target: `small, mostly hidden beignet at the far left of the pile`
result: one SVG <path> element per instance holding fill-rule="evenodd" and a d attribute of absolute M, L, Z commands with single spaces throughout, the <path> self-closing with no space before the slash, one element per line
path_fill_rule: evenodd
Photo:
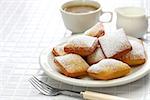
<path fill-rule="evenodd" d="M 62 55 L 65 55 L 66 52 L 64 51 L 64 46 L 65 46 L 65 43 L 62 43 L 62 44 L 59 44 L 57 46 L 55 46 L 52 50 L 52 53 L 55 55 L 55 56 L 62 56 Z"/>

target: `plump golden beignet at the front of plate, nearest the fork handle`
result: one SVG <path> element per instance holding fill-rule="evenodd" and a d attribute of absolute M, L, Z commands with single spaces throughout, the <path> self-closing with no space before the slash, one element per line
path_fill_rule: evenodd
<path fill-rule="evenodd" d="M 127 75 L 131 71 L 128 64 L 115 59 L 103 59 L 88 68 L 89 76 L 94 79 L 110 80 Z"/>

